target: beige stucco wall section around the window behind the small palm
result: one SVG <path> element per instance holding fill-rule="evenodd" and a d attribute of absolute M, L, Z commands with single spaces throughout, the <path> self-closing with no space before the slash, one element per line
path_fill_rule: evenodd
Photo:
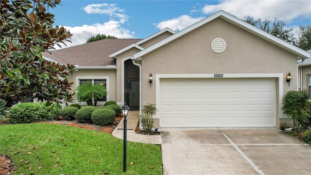
<path fill-rule="evenodd" d="M 80 69 L 73 73 L 73 76 L 69 77 L 69 82 L 74 84 L 71 87 L 71 91 L 74 91 L 79 85 L 76 82 L 76 77 L 89 77 L 89 79 L 96 79 L 96 77 L 109 77 L 109 90 L 107 91 L 107 97 L 109 100 L 117 100 L 117 70 L 83 70 Z M 76 100 L 74 103 L 78 103 Z"/>

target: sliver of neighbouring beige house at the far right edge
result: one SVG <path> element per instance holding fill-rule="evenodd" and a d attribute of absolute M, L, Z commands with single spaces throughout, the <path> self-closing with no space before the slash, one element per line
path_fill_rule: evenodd
<path fill-rule="evenodd" d="M 307 51 L 311 53 L 311 50 Z M 299 60 L 298 63 L 298 89 L 308 90 L 311 93 L 311 57 Z"/>

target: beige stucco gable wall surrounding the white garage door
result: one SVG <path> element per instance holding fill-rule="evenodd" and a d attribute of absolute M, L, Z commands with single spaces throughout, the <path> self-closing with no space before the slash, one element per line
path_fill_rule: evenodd
<path fill-rule="evenodd" d="M 223 53 L 211 49 L 212 40 L 218 37 L 226 42 Z M 156 74 L 282 73 L 285 94 L 297 88 L 296 62 L 296 55 L 218 18 L 142 57 L 142 105 L 155 103 L 155 82 L 152 87 L 148 82 L 150 72 L 154 78 Z M 290 87 L 288 72 L 293 75 Z"/>

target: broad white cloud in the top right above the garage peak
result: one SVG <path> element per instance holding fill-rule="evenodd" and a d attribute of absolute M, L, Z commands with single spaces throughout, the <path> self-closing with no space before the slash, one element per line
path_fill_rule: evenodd
<path fill-rule="evenodd" d="M 289 24 L 298 17 L 311 18 L 310 7 L 310 0 L 226 0 L 217 5 L 205 5 L 202 10 L 208 15 L 224 10 L 237 18 L 278 18 Z"/>

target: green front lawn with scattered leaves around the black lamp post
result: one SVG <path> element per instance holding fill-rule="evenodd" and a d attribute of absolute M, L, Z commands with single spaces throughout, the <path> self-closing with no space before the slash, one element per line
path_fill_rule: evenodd
<path fill-rule="evenodd" d="M 158 145 L 128 141 L 124 173 L 123 140 L 67 125 L 1 125 L 0 154 L 11 157 L 15 175 L 162 175 Z"/>

